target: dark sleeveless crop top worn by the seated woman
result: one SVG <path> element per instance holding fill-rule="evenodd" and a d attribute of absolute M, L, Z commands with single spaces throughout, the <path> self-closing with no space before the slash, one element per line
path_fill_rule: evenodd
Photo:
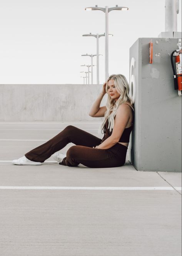
<path fill-rule="evenodd" d="M 127 103 L 125 103 L 125 104 L 127 104 Z M 129 104 L 127 104 L 127 105 L 130 106 Z M 130 108 L 131 108 L 131 106 L 130 106 Z M 133 109 L 132 109 L 132 114 L 133 114 L 132 126 L 130 126 L 128 128 L 125 128 L 119 142 L 129 142 L 130 141 L 130 133 L 131 133 L 131 131 L 133 129 L 133 126 L 134 126 L 134 111 L 133 111 Z M 109 125 L 109 121 L 107 119 L 106 122 L 105 122 L 105 125 L 104 125 L 104 138 L 102 139 L 101 143 L 104 140 L 106 140 L 108 137 L 110 137 L 110 135 L 112 134 L 112 131 L 110 132 L 109 129 L 108 129 L 108 125 Z"/>

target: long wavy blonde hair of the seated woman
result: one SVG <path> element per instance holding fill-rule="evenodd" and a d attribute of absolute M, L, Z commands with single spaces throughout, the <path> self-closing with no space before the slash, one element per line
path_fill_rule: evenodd
<path fill-rule="evenodd" d="M 120 94 L 120 97 L 117 101 L 115 101 L 115 99 L 112 99 L 108 93 L 107 84 L 108 84 L 109 80 L 114 80 L 114 85 L 116 87 L 116 90 Z M 115 118 L 117 109 L 120 104 L 130 101 L 131 107 L 134 110 L 132 99 L 129 96 L 129 90 L 130 90 L 129 83 L 124 75 L 121 75 L 121 74 L 110 75 L 110 77 L 107 79 L 107 83 L 105 86 L 105 91 L 108 94 L 108 98 L 107 98 L 107 102 L 106 102 L 107 111 L 104 114 L 104 121 L 99 128 L 99 131 L 101 131 L 101 133 L 102 133 L 102 130 L 104 128 L 107 118 L 109 121 L 108 129 L 110 132 L 112 131 L 112 129 L 114 127 L 114 118 Z"/>

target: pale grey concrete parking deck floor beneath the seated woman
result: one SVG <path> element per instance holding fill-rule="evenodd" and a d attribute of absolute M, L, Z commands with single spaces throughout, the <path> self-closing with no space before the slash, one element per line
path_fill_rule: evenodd
<path fill-rule="evenodd" d="M 101 138 L 96 122 L 0 123 L 0 256 L 181 256 L 181 173 L 11 164 L 67 125 Z"/>

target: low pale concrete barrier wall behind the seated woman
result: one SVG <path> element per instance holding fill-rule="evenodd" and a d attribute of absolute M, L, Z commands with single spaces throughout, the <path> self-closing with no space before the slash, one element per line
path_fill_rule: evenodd
<path fill-rule="evenodd" d="M 0 85 L 0 121 L 93 121 L 88 115 L 102 85 Z M 100 106 L 104 106 L 107 94 Z"/>

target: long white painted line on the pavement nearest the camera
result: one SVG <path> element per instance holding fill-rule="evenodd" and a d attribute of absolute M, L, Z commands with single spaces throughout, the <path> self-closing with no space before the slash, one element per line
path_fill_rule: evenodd
<path fill-rule="evenodd" d="M 49 187 L 49 186 L 0 186 L 0 189 L 58 189 L 58 190 L 181 190 L 181 187 Z"/>

